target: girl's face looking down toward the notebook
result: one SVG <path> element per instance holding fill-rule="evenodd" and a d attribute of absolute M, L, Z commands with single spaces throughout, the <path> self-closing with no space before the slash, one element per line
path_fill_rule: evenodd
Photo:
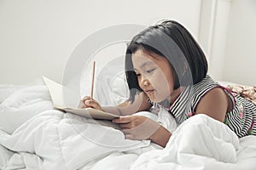
<path fill-rule="evenodd" d="M 149 54 L 138 49 L 131 55 L 134 71 L 140 88 L 149 99 L 159 103 L 164 99 L 171 101 L 173 92 L 172 67 L 168 60 L 158 54 Z"/>

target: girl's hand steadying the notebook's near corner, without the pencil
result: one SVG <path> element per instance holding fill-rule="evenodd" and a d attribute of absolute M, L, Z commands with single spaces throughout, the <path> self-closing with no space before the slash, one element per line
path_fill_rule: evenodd
<path fill-rule="evenodd" d="M 121 116 L 112 122 L 119 123 L 119 127 L 125 133 L 125 139 L 151 139 L 160 127 L 159 123 L 146 116 Z"/>

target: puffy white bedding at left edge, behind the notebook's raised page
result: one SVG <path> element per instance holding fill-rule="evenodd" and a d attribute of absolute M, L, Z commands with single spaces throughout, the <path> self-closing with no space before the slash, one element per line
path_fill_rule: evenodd
<path fill-rule="evenodd" d="M 0 129 L 13 133 L 32 116 L 49 109 L 52 103 L 46 86 L 20 88 L 0 105 Z"/>

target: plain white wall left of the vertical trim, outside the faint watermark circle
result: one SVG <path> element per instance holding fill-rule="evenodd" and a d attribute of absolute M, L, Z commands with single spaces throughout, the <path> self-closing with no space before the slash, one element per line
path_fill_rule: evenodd
<path fill-rule="evenodd" d="M 174 19 L 198 37 L 201 0 L 0 0 L 0 83 L 61 82 L 73 49 L 93 32 Z"/>

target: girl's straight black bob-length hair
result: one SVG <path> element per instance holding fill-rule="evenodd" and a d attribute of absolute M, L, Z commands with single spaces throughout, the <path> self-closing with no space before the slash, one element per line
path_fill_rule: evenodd
<path fill-rule="evenodd" d="M 126 48 L 125 76 L 130 89 L 131 102 L 143 90 L 139 87 L 131 55 L 138 49 L 144 53 L 165 57 L 174 76 L 174 89 L 189 86 L 207 75 L 207 59 L 194 37 L 181 24 L 174 20 L 164 20 L 149 26 L 132 38 Z"/>

